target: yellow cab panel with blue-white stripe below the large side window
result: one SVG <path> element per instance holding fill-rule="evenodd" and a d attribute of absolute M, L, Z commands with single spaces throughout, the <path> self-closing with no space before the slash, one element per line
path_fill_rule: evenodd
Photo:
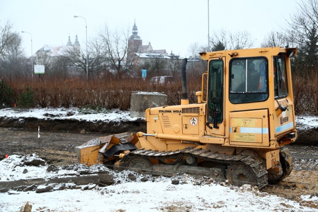
<path fill-rule="evenodd" d="M 269 146 L 268 110 L 230 113 L 230 145 Z"/>

